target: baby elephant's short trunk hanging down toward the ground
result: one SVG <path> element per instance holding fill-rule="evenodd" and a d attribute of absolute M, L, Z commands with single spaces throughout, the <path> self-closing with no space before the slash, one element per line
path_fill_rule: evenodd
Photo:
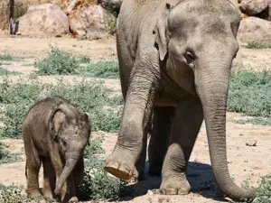
<path fill-rule="evenodd" d="M 74 169 L 75 164 L 77 161 L 79 161 L 79 155 L 74 156 L 74 153 L 72 156 L 67 156 L 66 163 L 64 166 L 63 171 L 61 172 L 61 177 L 59 178 L 56 188 L 54 190 L 54 193 L 56 195 L 61 194 L 61 188 L 63 187 L 63 184 L 67 180 L 67 178 L 70 176 L 70 172 Z"/>

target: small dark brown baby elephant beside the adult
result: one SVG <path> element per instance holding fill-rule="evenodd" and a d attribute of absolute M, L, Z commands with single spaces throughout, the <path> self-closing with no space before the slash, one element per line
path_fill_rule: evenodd
<path fill-rule="evenodd" d="M 83 153 L 90 132 L 89 116 L 64 98 L 47 97 L 30 108 L 23 121 L 28 196 L 61 195 L 62 202 L 79 201 L 76 189 L 84 176 Z M 41 164 L 42 194 L 38 182 Z"/>

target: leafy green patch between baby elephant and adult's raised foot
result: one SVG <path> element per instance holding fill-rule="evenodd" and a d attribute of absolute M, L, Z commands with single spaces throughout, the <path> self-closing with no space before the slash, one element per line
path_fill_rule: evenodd
<path fill-rule="evenodd" d="M 85 175 L 79 186 L 80 200 L 117 200 L 124 194 L 125 183 L 102 170 L 104 161 L 100 156 L 105 151 L 101 143 L 102 139 L 93 139 L 85 150 Z"/>

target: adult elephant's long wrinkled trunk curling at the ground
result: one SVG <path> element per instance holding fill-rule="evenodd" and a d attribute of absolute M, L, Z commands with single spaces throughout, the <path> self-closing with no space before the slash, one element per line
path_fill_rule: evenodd
<path fill-rule="evenodd" d="M 204 64 L 204 63 L 201 63 Z M 220 66 L 218 66 L 220 65 Z M 206 124 L 210 161 L 220 189 L 234 200 L 253 198 L 256 189 L 239 188 L 229 176 L 226 149 L 226 106 L 229 90 L 229 63 L 221 61 L 195 72 L 195 84 L 201 98 Z"/>

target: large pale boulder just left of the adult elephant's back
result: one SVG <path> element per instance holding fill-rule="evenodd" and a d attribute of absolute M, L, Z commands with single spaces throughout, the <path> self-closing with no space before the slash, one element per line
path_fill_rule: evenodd
<path fill-rule="evenodd" d="M 102 38 L 116 31 L 117 18 L 101 5 L 83 5 L 75 14 L 70 14 L 70 30 L 78 37 Z"/>

